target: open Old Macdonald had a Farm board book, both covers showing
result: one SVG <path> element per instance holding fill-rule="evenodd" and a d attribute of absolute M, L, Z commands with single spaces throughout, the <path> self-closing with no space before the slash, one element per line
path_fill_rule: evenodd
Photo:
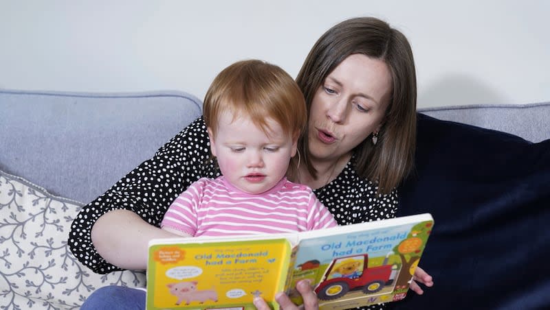
<path fill-rule="evenodd" d="M 281 235 L 155 239 L 149 243 L 147 309 L 278 309 L 309 279 L 320 309 L 405 298 L 432 231 L 429 213 Z"/>

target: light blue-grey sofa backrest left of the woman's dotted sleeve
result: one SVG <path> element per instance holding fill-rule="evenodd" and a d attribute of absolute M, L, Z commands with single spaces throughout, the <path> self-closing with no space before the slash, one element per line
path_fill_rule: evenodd
<path fill-rule="evenodd" d="M 201 115 L 176 91 L 0 90 L 0 169 L 89 202 Z"/>

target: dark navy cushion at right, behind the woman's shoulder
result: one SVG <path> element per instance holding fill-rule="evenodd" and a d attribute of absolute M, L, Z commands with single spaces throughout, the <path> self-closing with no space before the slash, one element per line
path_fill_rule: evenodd
<path fill-rule="evenodd" d="M 416 170 L 399 193 L 399 215 L 434 217 L 420 263 L 434 287 L 395 307 L 550 305 L 550 140 L 419 114 Z"/>

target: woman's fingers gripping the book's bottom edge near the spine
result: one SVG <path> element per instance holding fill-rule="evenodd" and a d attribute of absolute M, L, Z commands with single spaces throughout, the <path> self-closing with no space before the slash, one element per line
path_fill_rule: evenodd
<path fill-rule="evenodd" d="M 298 290 L 300 295 L 302 295 L 302 298 L 304 300 L 304 305 L 301 305 L 301 306 L 294 305 L 294 302 L 290 300 L 287 294 L 281 292 L 275 295 L 275 300 L 281 306 L 281 309 L 284 309 L 284 310 L 298 310 L 298 309 L 317 310 L 319 309 L 317 295 L 314 293 L 314 290 L 311 288 L 311 283 L 309 283 L 308 280 L 299 281 L 296 284 L 296 289 Z M 254 298 L 254 306 L 256 306 L 258 310 L 270 310 L 270 306 L 268 306 L 267 302 L 265 302 L 265 300 L 263 300 L 261 297 Z"/>

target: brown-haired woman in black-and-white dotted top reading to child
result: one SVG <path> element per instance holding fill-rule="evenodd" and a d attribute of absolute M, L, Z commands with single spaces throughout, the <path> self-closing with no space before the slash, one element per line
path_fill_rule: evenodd
<path fill-rule="evenodd" d="M 319 38 L 297 82 L 309 125 L 298 150 L 305 164 L 289 180 L 314 189 L 340 225 L 395 217 L 395 187 L 412 169 L 416 139 L 415 65 L 405 36 L 374 18 L 343 21 Z M 98 273 L 144 269 L 148 240 L 171 237 L 158 228 L 170 202 L 198 178 L 219 176 L 208 149 L 199 118 L 85 206 L 69 234 L 75 256 Z M 419 268 L 415 280 L 432 285 Z M 422 294 L 414 281 L 410 287 Z M 315 309 L 309 285 L 298 291 Z M 284 294 L 277 300 L 296 307 Z"/>

